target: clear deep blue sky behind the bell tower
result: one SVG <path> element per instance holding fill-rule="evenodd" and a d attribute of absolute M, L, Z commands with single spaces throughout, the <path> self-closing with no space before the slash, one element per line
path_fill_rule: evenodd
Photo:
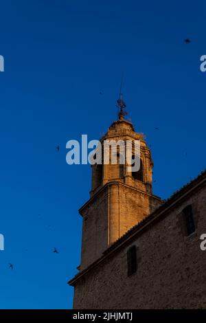
<path fill-rule="evenodd" d="M 91 168 L 66 164 L 66 142 L 106 132 L 124 71 L 128 116 L 152 145 L 154 193 L 165 199 L 196 177 L 206 3 L 7 0 L 0 11 L 0 307 L 69 309 Z"/>

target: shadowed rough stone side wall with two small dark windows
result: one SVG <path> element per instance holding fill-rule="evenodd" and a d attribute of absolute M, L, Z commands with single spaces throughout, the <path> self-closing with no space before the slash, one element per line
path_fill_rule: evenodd
<path fill-rule="evenodd" d="M 75 283 L 75 309 L 206 308 L 206 188 L 187 197 Z M 183 208 L 192 203 L 196 232 L 185 236 Z M 126 211 L 125 211 L 126 212 Z M 127 276 L 128 247 L 138 268 Z"/>

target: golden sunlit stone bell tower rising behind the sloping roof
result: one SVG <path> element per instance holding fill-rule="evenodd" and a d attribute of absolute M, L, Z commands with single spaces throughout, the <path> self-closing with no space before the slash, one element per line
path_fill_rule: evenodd
<path fill-rule="evenodd" d="M 136 133 L 133 124 L 125 120 L 126 104 L 120 96 L 118 120 L 109 127 L 101 139 L 102 164 L 92 166 L 90 199 L 79 212 L 82 215 L 82 254 L 78 269 L 82 271 L 100 258 L 103 252 L 131 227 L 137 225 L 161 200 L 152 194 L 152 157 L 144 136 Z M 120 148 L 117 146 L 117 163 L 111 163 L 112 150 L 108 151 L 109 163 L 104 164 L 106 140 L 130 140 L 140 144 L 140 167 L 136 172 L 128 171 L 122 164 Z M 135 152 L 133 144 L 133 153 Z M 125 157 L 125 156 L 124 156 Z M 134 157 L 134 156 L 133 156 Z"/>

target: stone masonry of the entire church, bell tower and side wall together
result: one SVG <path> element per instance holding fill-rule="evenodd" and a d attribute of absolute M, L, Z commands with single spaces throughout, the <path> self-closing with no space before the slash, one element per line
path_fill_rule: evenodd
<path fill-rule="evenodd" d="M 93 165 L 90 199 L 80 208 L 82 255 L 74 309 L 198 309 L 206 307 L 206 172 L 161 201 L 152 194 L 153 162 L 144 137 L 126 120 L 104 139 L 141 140 L 141 169 Z M 185 210 L 192 210 L 188 234 Z M 188 218 L 189 219 L 189 218 Z M 137 250 L 128 276 L 128 250 Z"/>

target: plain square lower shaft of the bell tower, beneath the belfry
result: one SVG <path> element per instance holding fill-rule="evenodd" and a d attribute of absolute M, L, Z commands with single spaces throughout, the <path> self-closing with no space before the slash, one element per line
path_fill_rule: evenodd
<path fill-rule="evenodd" d="M 80 269 L 100 258 L 108 245 L 160 204 L 158 198 L 118 181 L 105 186 L 83 211 Z"/>

